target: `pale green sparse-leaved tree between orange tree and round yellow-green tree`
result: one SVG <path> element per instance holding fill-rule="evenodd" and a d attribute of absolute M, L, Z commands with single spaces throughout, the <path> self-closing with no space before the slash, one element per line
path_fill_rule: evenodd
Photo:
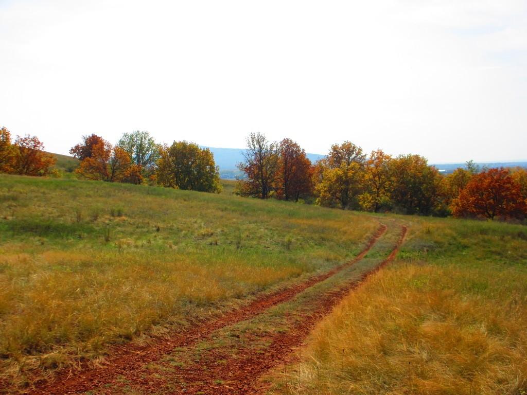
<path fill-rule="evenodd" d="M 150 174 L 159 159 L 159 144 L 148 132 L 135 131 L 124 133 L 117 146 L 121 147 L 136 166 L 140 166 L 143 174 Z"/>

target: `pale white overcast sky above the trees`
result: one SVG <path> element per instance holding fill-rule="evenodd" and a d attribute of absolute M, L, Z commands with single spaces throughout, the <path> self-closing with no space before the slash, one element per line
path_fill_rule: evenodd
<path fill-rule="evenodd" d="M 0 0 L 0 126 L 527 160 L 527 1 Z"/>

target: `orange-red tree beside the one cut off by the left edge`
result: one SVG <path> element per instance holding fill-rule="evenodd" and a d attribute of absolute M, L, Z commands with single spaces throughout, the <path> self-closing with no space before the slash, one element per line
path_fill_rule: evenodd
<path fill-rule="evenodd" d="M 56 158 L 44 151 L 44 144 L 36 136 L 17 136 L 13 144 L 11 172 L 21 175 L 49 175 Z"/>

